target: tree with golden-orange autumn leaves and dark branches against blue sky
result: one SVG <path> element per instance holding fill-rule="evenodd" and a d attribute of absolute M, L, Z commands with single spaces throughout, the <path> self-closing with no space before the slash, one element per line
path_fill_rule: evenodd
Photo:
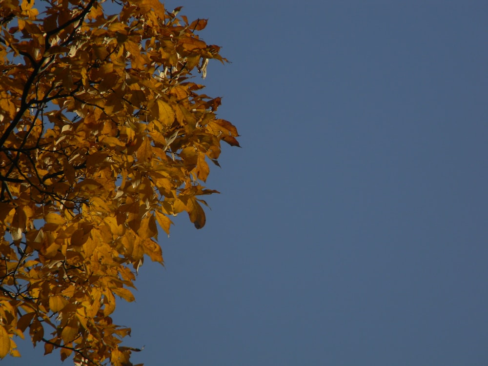
<path fill-rule="evenodd" d="M 102 2 L 0 2 L 1 358 L 28 330 L 61 360 L 131 365 L 115 296 L 134 300 L 144 256 L 163 264 L 157 224 L 205 224 L 207 162 L 239 146 L 195 79 L 226 61 L 206 20 Z"/>

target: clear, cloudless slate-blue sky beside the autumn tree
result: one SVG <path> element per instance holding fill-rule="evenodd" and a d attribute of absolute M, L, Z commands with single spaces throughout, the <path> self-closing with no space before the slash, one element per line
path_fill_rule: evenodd
<path fill-rule="evenodd" d="M 488 365 L 488 3 L 165 5 L 232 61 L 203 82 L 243 148 L 120 301 L 134 363 Z"/>

